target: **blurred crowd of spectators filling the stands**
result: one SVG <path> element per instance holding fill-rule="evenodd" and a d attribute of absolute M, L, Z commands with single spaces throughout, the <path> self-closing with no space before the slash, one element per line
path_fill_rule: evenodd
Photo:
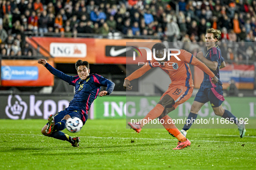
<path fill-rule="evenodd" d="M 119 32 L 126 38 L 203 42 L 207 28 L 220 29 L 223 42 L 256 41 L 256 0 L 0 0 L 5 56 L 33 55 L 25 41 L 28 31 L 60 37 Z M 232 51 L 236 48 L 224 50 L 231 54 L 228 60 L 256 60 L 255 48 L 245 45 L 241 55 Z"/>

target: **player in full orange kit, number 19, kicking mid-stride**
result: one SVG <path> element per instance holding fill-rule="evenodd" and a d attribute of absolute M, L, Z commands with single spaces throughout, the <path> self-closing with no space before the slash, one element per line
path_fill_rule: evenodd
<path fill-rule="evenodd" d="M 162 97 L 160 98 L 158 104 L 156 104 L 156 107 L 154 107 L 143 118 L 143 120 L 140 121 L 140 123 L 129 122 L 128 125 L 135 132 L 139 133 L 145 122 L 149 123 L 148 120 L 154 120 L 158 117 L 159 121 L 162 120 L 160 122 L 165 129 L 172 133 L 179 141 L 178 146 L 173 149 L 182 149 L 190 146 L 191 142 L 181 134 L 175 124 L 170 123 L 172 122 L 172 119 L 168 116 L 168 113 L 175 110 L 179 104 L 187 101 L 192 95 L 194 84 L 188 64 L 198 66 L 198 68 L 206 72 L 212 78 L 212 83 L 217 83 L 218 79 L 204 63 L 193 57 L 193 55 L 186 50 L 180 50 L 181 53 L 177 55 L 177 57 L 180 59 L 179 61 L 173 56 L 170 57 L 170 60 L 165 57 L 167 56 L 167 50 L 165 50 L 166 47 L 162 43 L 154 44 L 151 49 L 152 52 L 153 49 L 155 49 L 155 56 L 159 60 L 157 61 L 153 58 L 151 61 L 149 60 L 147 63 L 145 63 L 141 68 L 134 71 L 130 76 L 126 77 L 123 87 L 131 90 L 133 86 L 130 86 L 130 81 L 139 78 L 145 72 L 149 71 L 149 69 L 154 67 L 160 67 L 163 71 L 165 71 L 169 75 L 172 82 L 165 93 L 162 94 Z"/>

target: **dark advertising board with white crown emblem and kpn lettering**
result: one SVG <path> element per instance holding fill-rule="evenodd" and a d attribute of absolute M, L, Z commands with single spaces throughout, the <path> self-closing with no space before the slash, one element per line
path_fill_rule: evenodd
<path fill-rule="evenodd" d="M 73 95 L 1 95 L 0 119 L 47 119 L 68 107 Z"/>

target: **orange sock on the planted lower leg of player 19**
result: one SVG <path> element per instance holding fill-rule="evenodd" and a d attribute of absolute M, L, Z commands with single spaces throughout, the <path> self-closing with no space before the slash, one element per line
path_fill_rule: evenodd
<path fill-rule="evenodd" d="M 185 142 L 187 139 L 181 134 L 181 132 L 177 129 L 177 127 L 175 126 L 175 124 L 172 123 L 172 118 L 168 115 L 164 116 L 162 118 L 163 121 L 161 121 L 162 125 L 165 127 L 165 129 L 169 132 L 172 133 L 172 135 L 174 135 L 178 141 L 180 142 Z M 169 121 L 168 121 L 169 120 Z"/>

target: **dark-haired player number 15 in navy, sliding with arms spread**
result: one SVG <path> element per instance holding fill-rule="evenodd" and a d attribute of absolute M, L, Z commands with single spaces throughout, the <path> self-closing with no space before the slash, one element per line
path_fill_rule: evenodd
<path fill-rule="evenodd" d="M 113 91 L 115 84 L 97 74 L 89 75 L 90 69 L 87 61 L 78 60 L 75 63 L 78 76 L 64 74 L 53 68 L 45 59 L 39 59 L 38 63 L 45 66 L 53 75 L 75 86 L 75 95 L 69 106 L 65 110 L 58 112 L 55 116 L 50 115 L 48 123 L 42 128 L 41 132 L 45 136 L 68 141 L 72 146 L 78 147 L 79 137 L 72 138 L 61 132 L 61 130 L 66 128 L 66 121 L 70 117 L 78 117 L 84 124 L 88 118 L 88 110 L 90 110 L 91 104 L 97 98 L 97 95 L 109 95 Z M 100 91 L 101 86 L 107 87 L 106 91 Z"/>

